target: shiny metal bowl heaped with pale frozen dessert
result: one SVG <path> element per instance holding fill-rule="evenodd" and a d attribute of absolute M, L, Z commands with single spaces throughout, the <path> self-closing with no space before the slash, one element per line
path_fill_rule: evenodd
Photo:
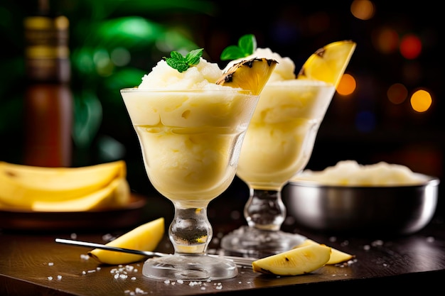
<path fill-rule="evenodd" d="M 343 160 L 321 171 L 304 170 L 284 188 L 297 224 L 329 234 L 414 234 L 434 216 L 439 179 L 385 162 Z"/>

